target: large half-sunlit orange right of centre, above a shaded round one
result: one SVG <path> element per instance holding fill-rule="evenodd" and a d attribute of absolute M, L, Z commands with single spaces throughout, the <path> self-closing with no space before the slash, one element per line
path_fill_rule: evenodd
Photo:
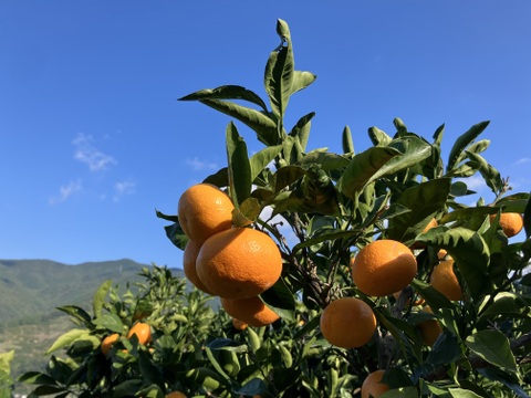
<path fill-rule="evenodd" d="M 352 279 L 363 293 L 386 296 L 406 287 L 417 274 L 417 261 L 404 243 L 377 240 L 360 250 Z"/>

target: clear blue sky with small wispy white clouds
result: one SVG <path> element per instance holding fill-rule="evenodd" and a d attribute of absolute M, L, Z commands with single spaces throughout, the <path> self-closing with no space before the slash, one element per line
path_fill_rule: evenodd
<path fill-rule="evenodd" d="M 490 119 L 485 156 L 530 190 L 531 2 L 251 3 L 0 1 L 0 258 L 180 268 L 155 209 L 176 213 L 225 165 L 230 119 L 176 98 L 223 84 L 264 97 L 278 18 L 295 67 L 317 75 L 288 108 L 288 125 L 316 112 L 309 148 L 340 151 L 348 125 L 366 149 L 368 127 L 400 117 L 428 138 L 445 123 L 448 150 Z"/>

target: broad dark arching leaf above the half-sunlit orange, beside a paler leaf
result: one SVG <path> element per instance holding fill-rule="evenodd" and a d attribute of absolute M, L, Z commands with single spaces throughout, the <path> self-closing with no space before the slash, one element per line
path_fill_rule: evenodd
<path fill-rule="evenodd" d="M 337 189 L 348 198 L 354 198 L 363 187 L 377 178 L 378 170 L 386 163 L 398 155 L 400 151 L 395 148 L 372 147 L 353 156 L 337 181 Z"/>

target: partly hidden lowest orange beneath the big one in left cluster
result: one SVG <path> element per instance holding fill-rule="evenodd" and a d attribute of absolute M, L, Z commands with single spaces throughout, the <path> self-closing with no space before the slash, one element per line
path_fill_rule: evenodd
<path fill-rule="evenodd" d="M 280 317 L 258 296 L 240 300 L 221 298 L 221 306 L 230 316 L 254 327 L 270 325 Z"/>

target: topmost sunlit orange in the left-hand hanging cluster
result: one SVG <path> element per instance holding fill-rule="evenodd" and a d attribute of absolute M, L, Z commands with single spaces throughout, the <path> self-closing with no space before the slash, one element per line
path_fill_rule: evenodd
<path fill-rule="evenodd" d="M 197 184 L 179 198 L 179 224 L 191 240 L 206 241 L 212 234 L 232 226 L 235 206 L 218 187 Z"/>

